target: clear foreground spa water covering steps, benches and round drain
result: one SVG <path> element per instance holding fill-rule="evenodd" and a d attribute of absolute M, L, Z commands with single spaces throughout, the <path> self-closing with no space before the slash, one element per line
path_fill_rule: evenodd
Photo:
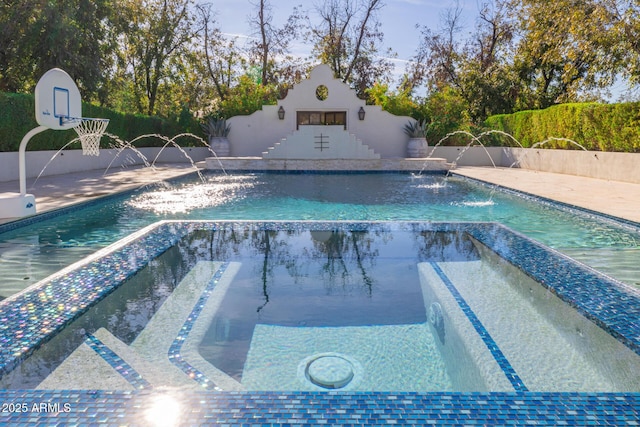
<path fill-rule="evenodd" d="M 97 276 L 91 264 L 78 267 L 95 278 L 75 294 L 59 291 L 68 302 L 96 298 L 97 288 L 111 286 L 104 278 L 115 271 L 134 274 L 79 317 L 65 314 L 72 322 L 21 360 L 19 369 L 0 378 L 0 386 L 367 392 L 640 389 L 637 331 L 628 330 L 628 322 L 615 324 L 619 313 L 630 309 L 625 304 L 637 306 L 640 293 L 504 227 L 427 222 L 184 224 L 156 225 L 143 235 L 146 241 L 127 239 L 110 249 L 128 254 L 126 266 L 118 257 L 109 261 L 105 253 L 95 260 L 100 265 Z M 175 243 L 159 249 L 159 255 L 146 252 L 152 251 L 149 242 L 172 236 Z M 557 264 L 557 271 L 536 272 L 531 261 L 540 257 Z M 519 263 L 528 263 L 524 268 L 531 271 Z M 569 275 L 562 277 L 562 271 Z M 74 274 L 67 273 L 66 281 Z M 611 301 L 599 299 L 594 306 L 596 289 L 604 289 Z M 626 302 L 616 292 L 623 292 Z M 35 290 L 33 297 L 40 300 L 47 293 Z M 613 323 L 603 318 L 599 326 L 589 319 L 608 304 Z M 13 314 L 0 311 L 0 316 Z M 23 326 L 16 319 L 11 327 L 24 336 L 23 330 L 38 331 L 53 320 L 47 315 L 38 324 L 37 319 L 33 313 Z M 626 346 L 603 328 L 635 341 Z"/>

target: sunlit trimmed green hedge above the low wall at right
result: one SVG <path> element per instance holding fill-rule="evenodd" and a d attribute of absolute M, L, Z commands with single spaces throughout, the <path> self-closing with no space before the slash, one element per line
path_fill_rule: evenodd
<path fill-rule="evenodd" d="M 545 110 L 491 116 L 489 129 L 513 135 L 525 147 L 551 137 L 571 139 L 588 150 L 640 152 L 640 103 L 562 104 Z M 550 142 L 546 147 L 575 148 Z"/>

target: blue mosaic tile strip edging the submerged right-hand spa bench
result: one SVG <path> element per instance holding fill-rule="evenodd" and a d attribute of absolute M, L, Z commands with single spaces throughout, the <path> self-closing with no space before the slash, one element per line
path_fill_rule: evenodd
<path fill-rule="evenodd" d="M 433 270 L 436 272 L 438 277 L 440 277 L 444 285 L 447 287 L 453 298 L 456 300 L 464 315 L 467 316 L 467 319 L 469 319 L 469 322 L 471 323 L 471 325 L 473 325 L 473 328 L 476 330 L 478 335 L 480 335 L 480 338 L 489 349 L 489 352 L 498 363 L 498 366 L 500 366 L 500 369 L 502 369 L 502 372 L 504 372 L 504 375 L 507 377 L 514 390 L 528 391 L 529 389 L 524 384 L 524 381 L 522 381 L 520 376 L 516 373 L 516 370 L 513 369 L 513 366 L 511 366 L 509 360 L 505 357 L 504 353 L 502 353 L 502 350 L 500 350 L 498 344 L 494 341 L 493 337 L 491 337 L 491 334 L 484 327 L 480 319 L 478 319 L 478 316 L 476 316 L 471 307 L 469 307 L 469 304 L 467 304 L 462 295 L 460 295 L 460 292 L 458 292 L 458 289 L 455 287 L 453 282 L 451 282 L 445 272 L 442 271 L 437 262 L 432 261 L 430 262 L 430 265 L 431 268 L 433 268 Z"/>

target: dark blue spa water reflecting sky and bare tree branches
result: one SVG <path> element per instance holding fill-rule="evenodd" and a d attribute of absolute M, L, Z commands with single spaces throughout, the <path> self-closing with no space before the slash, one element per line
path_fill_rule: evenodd
<path fill-rule="evenodd" d="M 466 234 L 419 226 L 413 231 L 382 225 L 367 230 L 220 230 L 190 238 L 213 239 L 217 259 L 243 264 L 199 347 L 205 359 L 238 380 L 257 324 L 425 323 L 417 263 L 479 257 Z"/>

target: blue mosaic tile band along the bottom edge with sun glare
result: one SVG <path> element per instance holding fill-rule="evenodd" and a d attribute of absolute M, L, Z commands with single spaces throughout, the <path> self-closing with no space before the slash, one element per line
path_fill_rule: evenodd
<path fill-rule="evenodd" d="M 0 402 L 0 423 L 18 427 L 153 425 L 162 403 L 176 426 L 640 425 L 632 393 L 0 391 Z"/>

